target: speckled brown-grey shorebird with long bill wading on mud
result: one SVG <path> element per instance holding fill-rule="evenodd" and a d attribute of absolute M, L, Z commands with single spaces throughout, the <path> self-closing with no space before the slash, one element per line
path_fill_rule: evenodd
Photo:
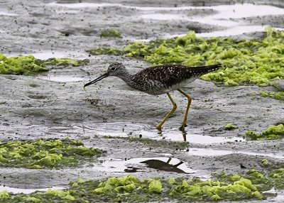
<path fill-rule="evenodd" d="M 178 90 L 178 92 L 187 97 L 188 100 L 187 109 L 185 110 L 185 117 L 182 121 L 182 126 L 180 126 L 180 130 L 184 131 L 185 127 L 187 126 L 187 114 L 190 110 L 192 99 L 190 95 L 183 92 L 180 88 L 185 87 L 185 85 L 195 81 L 195 79 L 201 75 L 218 70 L 219 67 L 221 67 L 219 64 L 200 67 L 187 67 L 185 65 L 168 64 L 148 67 L 136 73 L 135 75 L 131 75 L 131 73 L 129 73 L 121 62 L 113 62 L 111 65 L 109 65 L 107 72 L 97 77 L 97 79 L 84 84 L 84 89 L 90 84 L 94 84 L 101 79 L 109 76 L 115 76 L 124 80 L 124 82 L 126 82 L 126 84 L 133 89 L 137 89 L 141 92 L 146 92 L 152 95 L 167 94 L 173 104 L 173 109 L 167 114 L 167 116 L 165 116 L 165 119 L 158 124 L 156 127 L 158 130 L 161 130 L 165 121 L 167 121 L 170 115 L 172 115 L 175 109 L 177 109 L 177 104 L 175 104 L 175 101 L 170 96 L 170 92 Z"/>

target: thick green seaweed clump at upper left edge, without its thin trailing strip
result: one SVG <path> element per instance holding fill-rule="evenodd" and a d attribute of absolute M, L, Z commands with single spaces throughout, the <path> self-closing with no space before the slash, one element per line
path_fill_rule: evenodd
<path fill-rule="evenodd" d="M 0 74 L 33 75 L 36 72 L 45 71 L 48 71 L 48 68 L 32 55 L 6 57 L 0 54 Z"/>

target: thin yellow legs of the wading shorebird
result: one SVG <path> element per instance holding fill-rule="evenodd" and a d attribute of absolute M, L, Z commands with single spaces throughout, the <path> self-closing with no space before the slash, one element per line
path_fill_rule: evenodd
<path fill-rule="evenodd" d="M 178 92 L 180 92 L 181 94 L 183 94 L 185 97 L 187 97 L 187 100 L 188 100 L 188 103 L 187 103 L 187 109 L 185 110 L 185 118 L 183 119 L 182 121 L 182 126 L 180 126 L 180 131 L 184 131 L 185 130 L 185 127 L 187 126 L 186 124 L 186 121 L 187 121 L 187 114 L 188 114 L 188 111 L 190 110 L 190 104 L 191 104 L 191 97 L 190 95 L 186 94 L 185 92 L 183 92 L 181 89 L 178 89 Z M 170 101 L 172 102 L 173 104 L 173 109 L 168 113 L 167 116 L 165 116 L 165 119 L 163 119 L 162 122 L 160 122 L 160 124 L 158 124 L 158 126 L 156 127 L 158 130 L 161 130 L 162 129 L 162 126 L 163 124 L 165 123 L 165 121 L 168 120 L 168 118 L 170 117 L 170 115 L 173 114 L 173 112 L 175 111 L 175 109 L 177 109 L 177 104 L 175 104 L 175 101 L 173 101 L 173 98 L 170 97 L 170 94 L 167 93 L 168 97 L 170 98 Z"/>

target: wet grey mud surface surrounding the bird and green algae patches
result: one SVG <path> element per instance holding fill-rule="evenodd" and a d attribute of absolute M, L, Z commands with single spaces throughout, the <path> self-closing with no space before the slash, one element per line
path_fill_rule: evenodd
<path fill-rule="evenodd" d="M 107 150 L 99 163 L 62 170 L 27 170 L 0 168 L 0 184 L 19 188 L 67 187 L 77 177 L 102 179 L 123 176 L 129 165 L 138 170 L 137 177 L 192 177 L 208 178 L 214 172 L 244 173 L 251 168 L 266 170 L 263 158 L 271 163 L 283 162 L 284 141 L 244 141 L 246 130 L 263 131 L 270 125 L 284 123 L 283 101 L 258 95 L 275 91 L 275 87 L 217 87 L 197 79 L 184 88 L 192 96 L 192 106 L 185 132 L 178 130 L 187 101 L 179 92 L 173 92 L 178 109 L 164 125 L 155 130 L 171 109 L 166 95 L 151 96 L 137 92 L 118 78 L 109 77 L 87 87 L 83 85 L 101 75 L 110 62 L 123 62 L 132 72 L 150 66 L 147 62 L 129 57 L 108 55 L 89 56 L 84 50 L 97 46 L 124 48 L 127 42 L 167 35 L 181 35 L 194 30 L 197 33 L 226 30 L 224 26 L 202 24 L 184 19 L 149 20 L 143 15 L 177 14 L 191 18 L 212 15 L 214 9 L 180 9 L 176 6 L 204 6 L 201 1 L 107 1 L 107 6 L 68 6 L 77 1 L 0 2 L 0 48 L 7 56 L 35 55 L 35 57 L 89 58 L 83 67 L 51 68 L 45 75 L 35 77 L 0 75 L 0 141 L 30 140 L 35 138 L 74 138 L 87 146 Z M 97 1 L 97 4 L 103 1 Z M 270 4 L 270 1 L 245 3 Z M 104 2 L 105 3 L 105 2 Z M 226 4 L 227 1 L 208 1 L 205 6 Z M 109 6 L 109 4 L 113 4 Z M 119 6 L 121 4 L 128 6 Z M 273 1 L 283 8 L 283 1 Z M 63 5 L 63 6 L 62 6 Z M 135 9 L 142 7 L 173 7 L 175 9 Z M 284 10 L 283 10 L 284 11 Z M 283 15 L 242 21 L 246 26 L 271 25 L 284 28 Z M 273 23 L 271 23 L 273 22 Z M 123 38 L 100 38 L 104 29 L 115 28 Z M 264 27 L 263 27 L 264 29 Z M 245 31 L 244 31 L 245 32 Z M 259 35 L 258 33 L 250 35 Z M 240 35 L 242 37 L 243 35 Z M 281 84 L 281 82 L 280 82 Z M 283 82 L 282 82 L 283 87 Z M 224 125 L 233 123 L 239 128 L 224 131 Z M 103 138 L 103 136 L 118 138 Z M 142 136 L 159 142 L 129 142 L 128 136 Z M 179 149 L 173 141 L 189 142 Z M 225 141 L 219 141 L 224 138 Z M 195 140 L 192 142 L 192 140 Z M 146 165 L 131 163 L 137 158 L 175 158 L 182 161 L 185 174 L 166 172 Z M 116 163 L 111 163 L 112 161 Z M 118 164 L 118 165 L 116 165 Z M 175 163 L 173 163 L 175 164 Z M 246 168 L 241 168 L 240 164 Z M 269 200 L 269 199 L 268 199 Z M 275 199 L 271 199 L 274 201 Z"/>

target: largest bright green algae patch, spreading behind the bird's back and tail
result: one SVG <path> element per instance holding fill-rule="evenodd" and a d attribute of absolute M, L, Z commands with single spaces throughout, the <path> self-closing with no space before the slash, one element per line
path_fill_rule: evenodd
<path fill-rule="evenodd" d="M 135 42 L 121 50 L 129 57 L 141 57 L 153 65 L 178 63 L 187 66 L 222 64 L 221 70 L 201 79 L 225 86 L 271 85 L 283 79 L 284 32 L 266 28 L 263 39 L 200 38 L 195 32 L 180 38 Z"/>

